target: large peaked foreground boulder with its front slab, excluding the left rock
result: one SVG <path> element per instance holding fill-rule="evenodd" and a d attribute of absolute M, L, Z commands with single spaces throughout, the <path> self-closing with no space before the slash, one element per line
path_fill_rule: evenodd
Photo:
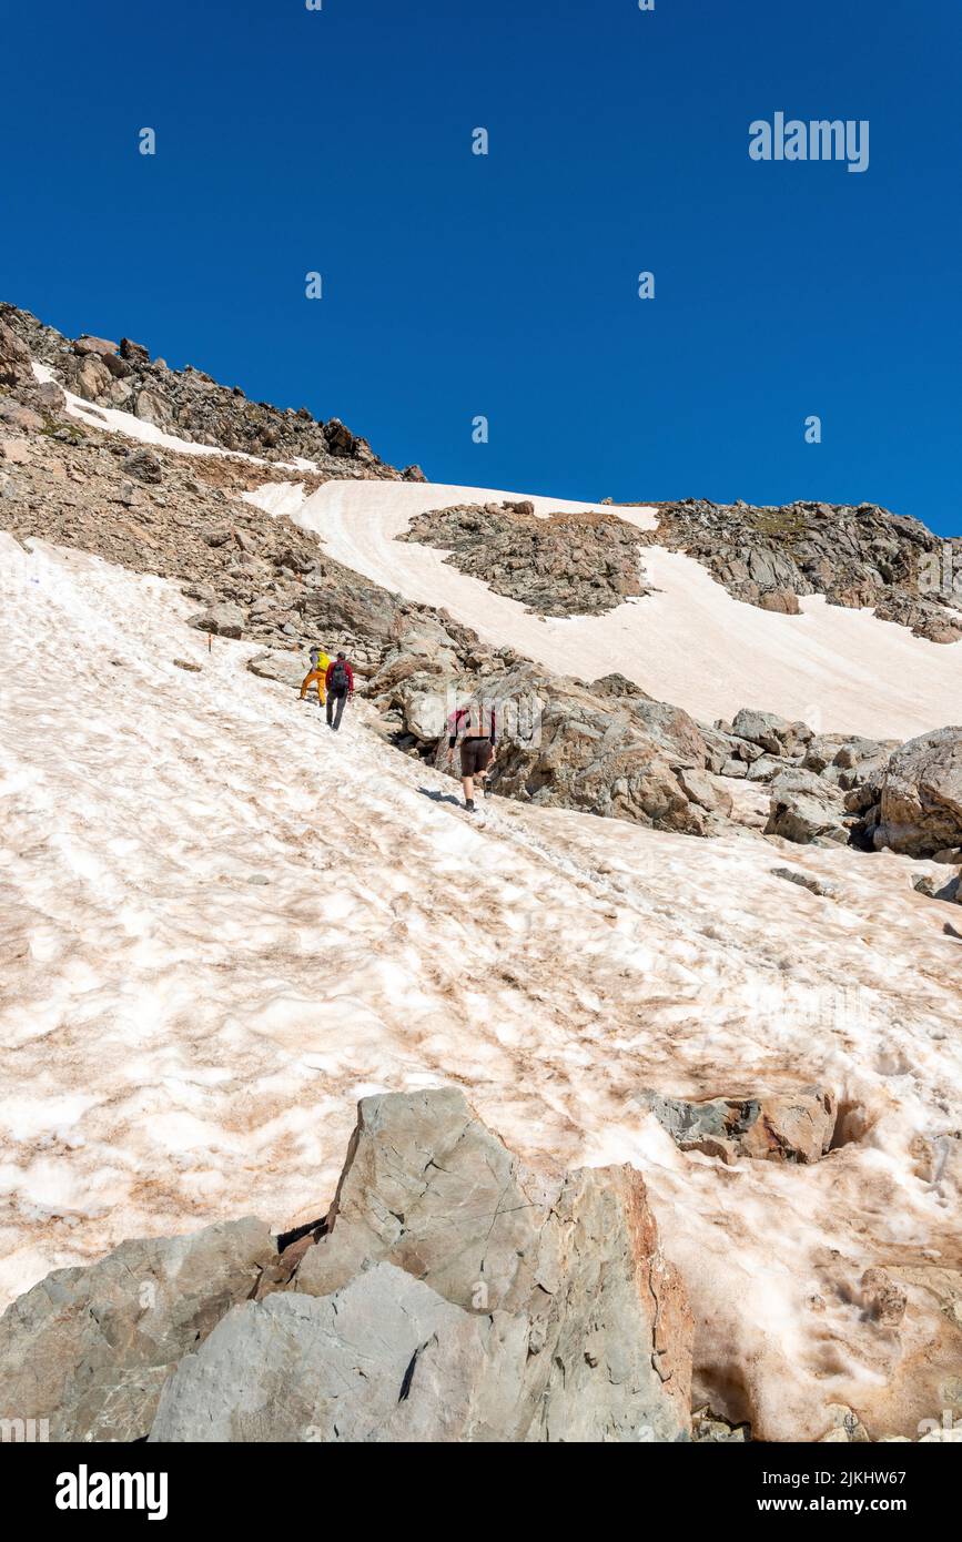
<path fill-rule="evenodd" d="M 151 1439 L 684 1440 L 691 1315 L 632 1167 L 533 1172 L 461 1092 L 365 1098 L 327 1231 Z"/>

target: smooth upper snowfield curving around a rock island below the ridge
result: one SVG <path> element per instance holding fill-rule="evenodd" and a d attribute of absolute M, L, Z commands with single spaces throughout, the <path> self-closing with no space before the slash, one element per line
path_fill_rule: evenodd
<path fill-rule="evenodd" d="M 651 547 L 644 572 L 655 594 L 606 615 L 541 620 L 458 572 L 444 552 L 395 540 L 426 509 L 526 493 L 333 481 L 298 509 L 296 489 L 288 492 L 284 512 L 316 530 L 331 557 L 410 600 L 444 604 L 486 641 L 563 674 L 594 680 L 620 671 L 706 722 L 755 706 L 820 732 L 910 739 L 959 719 L 962 641 L 930 643 L 871 611 L 831 606 L 820 595 L 800 600 L 802 615 L 760 611 L 732 600 L 694 558 Z M 536 513 L 600 507 L 535 500 Z M 654 509 L 607 512 L 641 529 L 658 523 Z"/>

